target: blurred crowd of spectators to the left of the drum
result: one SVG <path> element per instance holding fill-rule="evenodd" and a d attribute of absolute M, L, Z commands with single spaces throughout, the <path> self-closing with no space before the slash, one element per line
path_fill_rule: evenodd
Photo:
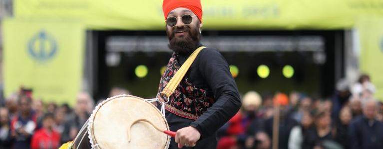
<path fill-rule="evenodd" d="M 21 88 L 0 108 L 0 149 L 58 149 L 75 138 L 93 108 L 86 92 L 78 93 L 72 109 L 34 99 Z"/>

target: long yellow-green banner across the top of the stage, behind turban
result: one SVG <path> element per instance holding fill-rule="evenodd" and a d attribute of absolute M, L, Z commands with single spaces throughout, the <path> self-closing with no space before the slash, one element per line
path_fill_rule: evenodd
<path fill-rule="evenodd" d="M 88 29 L 164 29 L 163 0 L 14 0 L 15 17 L 70 18 Z M 344 29 L 383 16 L 383 0 L 201 0 L 205 29 Z"/>

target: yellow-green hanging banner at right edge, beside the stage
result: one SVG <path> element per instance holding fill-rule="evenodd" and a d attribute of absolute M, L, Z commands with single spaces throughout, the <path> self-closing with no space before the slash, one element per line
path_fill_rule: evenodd
<path fill-rule="evenodd" d="M 361 19 L 357 23 L 360 38 L 360 68 L 376 86 L 375 97 L 383 101 L 383 17 Z"/>

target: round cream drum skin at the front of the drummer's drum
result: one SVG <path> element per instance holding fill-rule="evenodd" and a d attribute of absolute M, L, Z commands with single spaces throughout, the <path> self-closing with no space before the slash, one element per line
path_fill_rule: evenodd
<path fill-rule="evenodd" d="M 137 119 L 147 119 L 163 130 L 169 130 L 161 112 L 144 99 L 118 95 L 100 103 L 89 120 L 88 133 L 96 149 L 167 149 L 170 137 L 146 122 L 130 125 Z M 128 133 L 131 141 L 128 142 Z"/>

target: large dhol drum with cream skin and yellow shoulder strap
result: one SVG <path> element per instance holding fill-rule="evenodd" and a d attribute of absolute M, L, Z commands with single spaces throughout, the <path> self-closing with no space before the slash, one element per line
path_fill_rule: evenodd
<path fill-rule="evenodd" d="M 168 100 L 161 103 L 159 111 L 150 102 L 159 99 L 142 99 L 131 95 L 118 95 L 101 102 L 93 110 L 73 142 L 60 149 L 168 149 L 170 136 L 166 122 L 165 104 L 181 79 L 205 47 L 198 47 L 185 61 L 162 92 Z M 149 102 L 150 101 L 150 102 Z M 167 135 L 169 136 L 167 136 Z"/>

